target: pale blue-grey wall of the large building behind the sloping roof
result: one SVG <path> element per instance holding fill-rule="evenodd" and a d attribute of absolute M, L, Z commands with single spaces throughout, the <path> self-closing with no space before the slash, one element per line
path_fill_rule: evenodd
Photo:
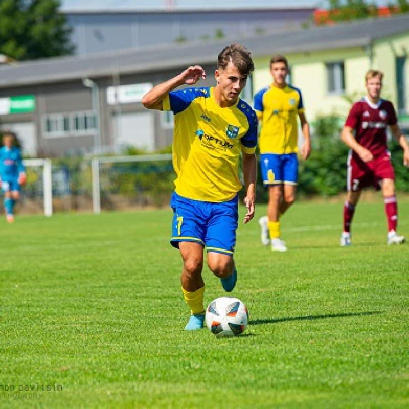
<path fill-rule="evenodd" d="M 78 55 L 126 48 L 171 44 L 181 40 L 206 41 L 274 32 L 300 27 L 312 20 L 314 8 L 70 12 L 64 14 L 73 28 Z"/>

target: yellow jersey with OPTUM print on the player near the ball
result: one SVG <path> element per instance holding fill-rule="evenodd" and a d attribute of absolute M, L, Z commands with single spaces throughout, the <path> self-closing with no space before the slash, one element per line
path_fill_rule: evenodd
<path fill-rule="evenodd" d="M 238 178 L 241 151 L 254 153 L 258 120 L 240 98 L 220 107 L 213 87 L 169 93 L 163 109 L 174 113 L 173 167 L 175 192 L 194 200 L 231 200 L 242 188 Z"/>

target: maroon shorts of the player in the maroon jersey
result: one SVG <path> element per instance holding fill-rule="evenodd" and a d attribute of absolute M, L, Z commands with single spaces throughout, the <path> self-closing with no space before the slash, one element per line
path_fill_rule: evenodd
<path fill-rule="evenodd" d="M 363 163 L 360 158 L 355 158 L 352 155 L 348 157 L 348 190 L 357 191 L 370 186 L 379 190 L 379 182 L 382 179 L 395 180 L 395 172 L 389 152 L 375 157 L 368 163 Z"/>

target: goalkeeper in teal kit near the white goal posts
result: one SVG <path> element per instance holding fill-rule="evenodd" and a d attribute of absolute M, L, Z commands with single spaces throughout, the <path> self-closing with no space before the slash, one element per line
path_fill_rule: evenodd
<path fill-rule="evenodd" d="M 4 196 L 4 210 L 9 223 L 14 222 L 14 205 L 20 198 L 21 187 L 26 183 L 26 171 L 22 164 L 21 150 L 16 146 L 14 132 L 3 132 L 0 148 L 0 179 Z"/>

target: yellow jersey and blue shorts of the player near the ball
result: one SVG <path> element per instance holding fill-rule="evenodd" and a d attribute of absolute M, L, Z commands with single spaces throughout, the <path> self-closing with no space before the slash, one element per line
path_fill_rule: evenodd
<path fill-rule="evenodd" d="M 240 153 L 254 153 L 257 116 L 238 99 L 220 107 L 213 87 L 174 91 L 163 101 L 174 113 L 173 166 L 176 172 L 171 243 L 191 241 L 208 251 L 233 255 L 238 219 Z"/>

